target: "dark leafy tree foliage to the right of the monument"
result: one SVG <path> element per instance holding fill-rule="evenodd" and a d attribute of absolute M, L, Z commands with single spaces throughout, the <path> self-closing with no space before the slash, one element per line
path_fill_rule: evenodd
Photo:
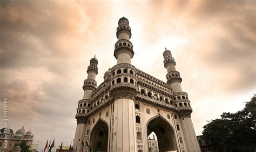
<path fill-rule="evenodd" d="M 256 95 L 236 113 L 224 112 L 204 126 L 203 135 L 217 147 L 254 145 L 256 141 Z"/>

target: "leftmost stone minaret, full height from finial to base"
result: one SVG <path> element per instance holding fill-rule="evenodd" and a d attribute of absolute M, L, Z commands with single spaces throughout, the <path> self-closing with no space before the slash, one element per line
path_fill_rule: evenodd
<path fill-rule="evenodd" d="M 87 127 L 87 120 L 84 117 L 87 112 L 90 111 L 90 98 L 92 96 L 92 91 L 96 89 L 97 82 L 95 80 L 96 75 L 98 74 L 98 60 L 96 57 L 93 57 L 90 60 L 90 66 L 87 68 L 87 79 L 84 80 L 83 90 L 84 90 L 84 97 L 83 99 L 79 100 L 78 108 L 77 108 L 77 128 L 75 139 L 73 142 L 73 149 L 74 151 L 81 151 L 82 149 L 82 141 L 84 140 L 85 131 Z M 83 141 L 85 143 L 85 141 Z"/>

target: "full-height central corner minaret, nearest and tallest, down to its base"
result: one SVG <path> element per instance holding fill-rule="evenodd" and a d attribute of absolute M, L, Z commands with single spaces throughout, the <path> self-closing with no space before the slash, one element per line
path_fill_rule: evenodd
<path fill-rule="evenodd" d="M 117 65 L 111 69 L 110 94 L 113 97 L 111 151 L 138 151 L 136 146 L 136 115 L 134 98 L 136 96 L 136 68 L 131 65 L 133 46 L 129 41 L 131 28 L 127 18 L 122 17 L 117 27 L 118 41 L 114 45 Z"/>

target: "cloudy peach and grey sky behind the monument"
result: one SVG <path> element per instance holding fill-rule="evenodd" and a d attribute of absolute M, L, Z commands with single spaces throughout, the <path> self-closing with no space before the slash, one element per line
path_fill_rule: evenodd
<path fill-rule="evenodd" d="M 125 16 L 136 68 L 166 81 L 162 54 L 172 51 L 200 135 L 207 120 L 241 110 L 256 91 L 255 14 L 255 1 L 241 0 L 1 1 L 0 86 L 10 128 L 25 124 L 40 148 L 54 138 L 68 146 L 89 60 L 96 54 L 102 83 L 117 63 L 116 27 Z"/>

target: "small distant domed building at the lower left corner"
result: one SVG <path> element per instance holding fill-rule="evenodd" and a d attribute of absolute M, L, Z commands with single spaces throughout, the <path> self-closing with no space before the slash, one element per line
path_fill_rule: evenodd
<path fill-rule="evenodd" d="M 7 148 L 5 148 L 4 140 L 5 136 L 8 138 L 8 145 Z M 19 144 L 20 142 L 25 141 L 27 145 L 31 146 L 33 142 L 33 133 L 31 129 L 26 132 L 24 129 L 24 126 L 21 129 L 18 129 L 18 131 L 14 132 L 12 129 L 8 129 L 6 132 L 5 129 L 1 129 L 0 133 L 0 151 L 12 151 L 15 148 L 15 144 Z"/>

